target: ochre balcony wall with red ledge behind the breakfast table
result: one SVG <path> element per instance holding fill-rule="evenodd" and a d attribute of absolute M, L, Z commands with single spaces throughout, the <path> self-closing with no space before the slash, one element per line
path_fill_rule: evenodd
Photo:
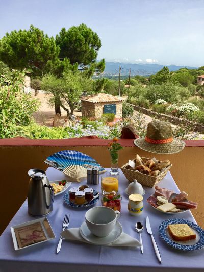
<path fill-rule="evenodd" d="M 25 138 L 1 139 L 1 225 L 0 233 L 8 225 L 17 212 L 28 192 L 28 170 L 40 168 L 46 170 L 48 165 L 44 160 L 50 155 L 61 150 L 77 150 L 96 159 L 103 167 L 110 167 L 110 155 L 107 149 L 109 140 L 74 138 L 59 140 L 30 140 Z M 129 159 L 134 159 L 136 154 L 158 160 L 169 159 L 173 166 L 171 174 L 181 191 L 189 194 L 188 199 L 198 202 L 198 209 L 192 213 L 197 223 L 204 227 L 204 140 L 188 140 L 186 147 L 180 153 L 160 155 L 145 152 L 133 143 L 133 139 L 121 139 L 119 143 L 124 147 L 120 151 L 119 166 Z"/>

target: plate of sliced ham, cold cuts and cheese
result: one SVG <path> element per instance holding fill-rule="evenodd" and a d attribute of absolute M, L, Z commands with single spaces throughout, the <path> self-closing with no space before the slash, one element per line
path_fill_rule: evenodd
<path fill-rule="evenodd" d="M 155 193 L 149 196 L 147 202 L 151 207 L 166 214 L 183 213 L 189 209 L 197 209 L 197 203 L 188 201 L 186 197 L 188 197 L 188 194 L 184 191 L 177 194 L 172 190 L 155 186 Z"/>

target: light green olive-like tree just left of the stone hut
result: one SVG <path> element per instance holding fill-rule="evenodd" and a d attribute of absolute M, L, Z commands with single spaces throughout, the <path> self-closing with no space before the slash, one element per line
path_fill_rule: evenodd
<path fill-rule="evenodd" d="M 54 98 L 50 100 L 50 104 L 54 104 L 57 97 L 60 106 L 67 112 L 67 116 L 71 118 L 82 93 L 84 91 L 88 94 L 92 93 L 93 80 L 87 79 L 84 73 L 80 71 L 64 72 L 62 78 L 47 74 L 42 78 L 42 88 L 54 95 Z"/>

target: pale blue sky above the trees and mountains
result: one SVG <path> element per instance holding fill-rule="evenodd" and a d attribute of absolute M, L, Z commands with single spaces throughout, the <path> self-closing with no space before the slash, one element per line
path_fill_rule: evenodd
<path fill-rule="evenodd" d="M 204 0 L 0 0 L 0 38 L 30 24 L 55 37 L 81 23 L 101 39 L 98 59 L 204 65 Z"/>

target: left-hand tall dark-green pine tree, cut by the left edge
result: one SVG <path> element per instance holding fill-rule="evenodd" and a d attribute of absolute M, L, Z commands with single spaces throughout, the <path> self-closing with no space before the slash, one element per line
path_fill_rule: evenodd
<path fill-rule="evenodd" d="M 10 68 L 27 68 L 32 76 L 42 75 L 48 61 L 56 61 L 59 47 L 55 39 L 34 26 L 30 30 L 11 31 L 0 40 L 0 60 Z"/>

